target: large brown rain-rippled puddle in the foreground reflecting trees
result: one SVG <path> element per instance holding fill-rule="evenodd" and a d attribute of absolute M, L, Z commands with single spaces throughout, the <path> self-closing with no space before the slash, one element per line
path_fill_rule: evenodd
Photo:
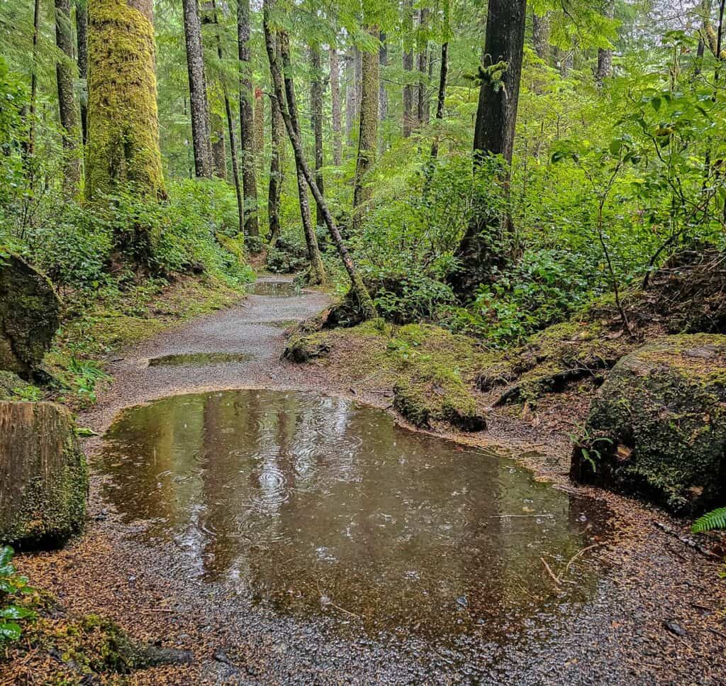
<path fill-rule="evenodd" d="M 106 436 L 102 469 L 124 519 L 178 546 L 192 575 L 280 611 L 430 635 L 556 613 L 563 598 L 541 558 L 560 573 L 604 516 L 508 461 L 312 393 L 132 408 Z M 584 557 L 567 601 L 595 588 Z"/>

